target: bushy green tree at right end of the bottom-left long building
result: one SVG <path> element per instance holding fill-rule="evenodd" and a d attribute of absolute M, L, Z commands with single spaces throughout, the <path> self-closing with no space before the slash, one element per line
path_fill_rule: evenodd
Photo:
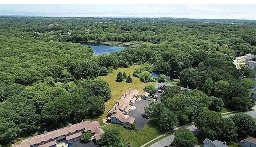
<path fill-rule="evenodd" d="M 106 130 L 100 137 L 99 144 L 103 145 L 103 147 L 125 147 L 118 129 Z"/>

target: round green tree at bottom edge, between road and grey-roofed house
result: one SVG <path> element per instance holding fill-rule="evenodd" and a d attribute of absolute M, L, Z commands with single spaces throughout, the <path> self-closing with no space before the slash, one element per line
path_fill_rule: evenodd
<path fill-rule="evenodd" d="M 197 138 L 194 134 L 189 129 L 182 128 L 175 132 L 175 137 L 170 147 L 194 147 L 197 144 Z"/>

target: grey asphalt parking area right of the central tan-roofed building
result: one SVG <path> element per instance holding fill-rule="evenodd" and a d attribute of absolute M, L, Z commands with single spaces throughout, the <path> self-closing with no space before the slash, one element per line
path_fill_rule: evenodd
<path fill-rule="evenodd" d="M 150 102 L 152 102 L 153 98 L 151 100 L 141 100 L 139 102 L 135 102 L 134 106 L 136 107 L 135 110 L 130 110 L 128 113 L 129 116 L 132 116 L 135 118 L 135 125 L 140 128 L 144 129 L 146 123 L 148 122 L 148 119 L 142 118 L 142 114 L 144 112 L 144 107 L 149 106 Z"/>

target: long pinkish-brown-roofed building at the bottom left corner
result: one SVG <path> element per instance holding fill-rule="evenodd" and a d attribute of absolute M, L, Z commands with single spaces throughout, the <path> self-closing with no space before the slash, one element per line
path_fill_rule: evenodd
<path fill-rule="evenodd" d="M 81 139 L 82 133 L 91 131 L 93 133 L 93 139 L 96 142 L 100 141 L 100 134 L 104 133 L 100 128 L 98 121 L 85 121 L 54 131 L 44 131 L 43 134 L 30 137 L 22 141 L 21 145 L 17 147 L 57 147 L 60 142 L 72 143 Z"/>

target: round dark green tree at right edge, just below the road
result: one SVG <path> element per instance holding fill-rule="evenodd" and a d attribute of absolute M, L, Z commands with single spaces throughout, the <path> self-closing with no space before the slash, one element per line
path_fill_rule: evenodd
<path fill-rule="evenodd" d="M 248 114 L 237 113 L 234 116 L 230 116 L 230 118 L 236 125 L 239 135 L 252 135 L 256 130 L 255 121 Z"/>

